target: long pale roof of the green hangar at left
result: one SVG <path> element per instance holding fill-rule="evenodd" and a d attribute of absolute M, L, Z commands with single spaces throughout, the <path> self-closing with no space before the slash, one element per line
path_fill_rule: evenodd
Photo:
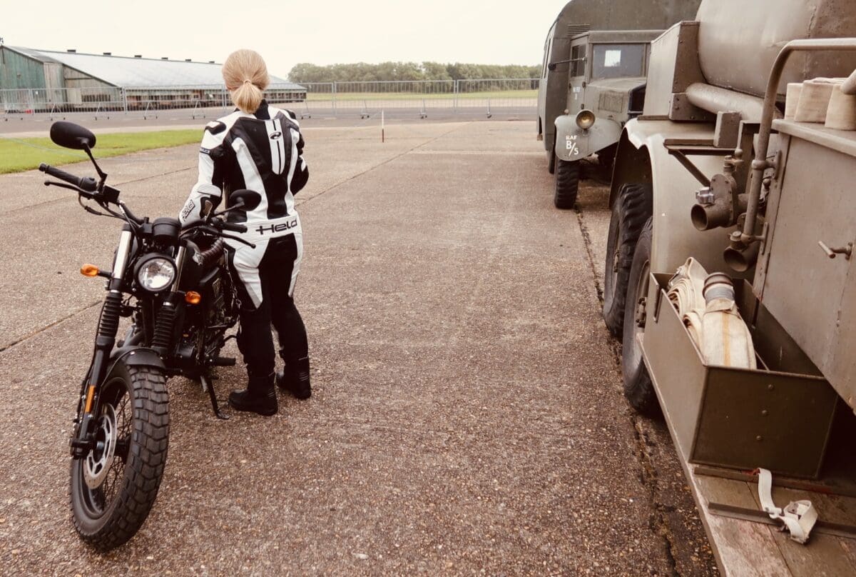
<path fill-rule="evenodd" d="M 68 68 L 116 87 L 222 87 L 222 64 L 163 60 L 161 58 L 121 57 L 80 52 L 34 50 L 3 46 L 40 62 L 62 63 Z M 270 84 L 286 90 L 302 90 L 298 84 L 270 75 Z"/>

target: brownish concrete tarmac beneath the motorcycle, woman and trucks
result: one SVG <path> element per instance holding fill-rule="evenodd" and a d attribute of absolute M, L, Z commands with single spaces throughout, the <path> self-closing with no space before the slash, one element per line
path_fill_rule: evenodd
<path fill-rule="evenodd" d="M 158 501 L 107 555 L 69 520 L 67 447 L 103 297 L 77 269 L 109 265 L 121 225 L 37 171 L 0 177 L 3 572 L 715 573 L 668 432 L 621 395 L 598 300 L 607 189 L 556 210 L 532 129 L 306 128 L 312 399 L 223 422 L 170 380 Z M 103 166 L 135 213 L 174 214 L 196 150 Z M 244 379 L 219 370 L 218 397 Z"/>

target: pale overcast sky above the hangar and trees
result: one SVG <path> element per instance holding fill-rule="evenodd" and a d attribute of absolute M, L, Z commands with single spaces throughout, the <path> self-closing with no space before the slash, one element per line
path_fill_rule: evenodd
<path fill-rule="evenodd" d="M 295 63 L 538 64 L 566 0 L 2 0 L 5 44 L 222 63 L 252 48 L 271 74 Z"/>

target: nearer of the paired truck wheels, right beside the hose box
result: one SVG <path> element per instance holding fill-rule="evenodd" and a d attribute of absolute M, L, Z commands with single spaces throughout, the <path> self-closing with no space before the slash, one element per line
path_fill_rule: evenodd
<path fill-rule="evenodd" d="M 651 219 L 648 219 L 639 234 L 630 267 L 628 306 L 624 310 L 624 338 L 621 343 L 621 371 L 624 376 L 624 396 L 633 410 L 647 417 L 657 417 L 662 414 L 660 403 L 637 340 L 639 334 L 645 332 L 645 298 L 648 295 L 650 271 Z"/>

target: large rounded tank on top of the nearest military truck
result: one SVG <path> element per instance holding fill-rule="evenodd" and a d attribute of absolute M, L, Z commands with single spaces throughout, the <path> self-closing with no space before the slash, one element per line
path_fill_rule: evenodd
<path fill-rule="evenodd" d="M 708 84 L 763 96 L 782 46 L 794 39 L 856 37 L 853 0 L 704 0 L 698 8 L 698 60 Z M 788 82 L 847 76 L 856 53 L 794 54 L 778 93 Z"/>

